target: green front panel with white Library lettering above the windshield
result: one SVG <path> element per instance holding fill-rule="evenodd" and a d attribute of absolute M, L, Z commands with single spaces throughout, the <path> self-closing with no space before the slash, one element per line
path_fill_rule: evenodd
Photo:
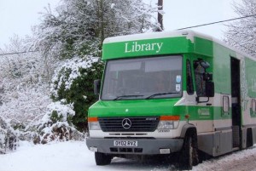
<path fill-rule="evenodd" d="M 104 43 L 102 60 L 160 54 L 183 54 L 192 52 L 192 50 L 193 44 L 186 37 Z"/>

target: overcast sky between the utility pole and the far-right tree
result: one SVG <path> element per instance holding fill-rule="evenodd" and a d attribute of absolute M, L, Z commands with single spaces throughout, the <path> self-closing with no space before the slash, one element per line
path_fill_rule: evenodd
<path fill-rule="evenodd" d="M 232 4 L 235 0 L 164 0 L 164 27 L 166 30 L 198 26 L 219 20 L 236 18 Z M 174 3 L 175 2 L 175 3 Z M 236 0 L 236 3 L 241 0 Z M 228 24 L 228 23 L 225 23 Z M 215 24 L 191 30 L 223 39 L 226 26 Z"/>

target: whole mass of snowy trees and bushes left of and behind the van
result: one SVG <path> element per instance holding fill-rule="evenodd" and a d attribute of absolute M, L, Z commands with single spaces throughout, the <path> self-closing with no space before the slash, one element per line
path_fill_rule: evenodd
<path fill-rule="evenodd" d="M 0 150 L 17 137 L 43 144 L 81 138 L 76 128 L 87 128 L 97 100 L 103 39 L 153 31 L 155 11 L 142 0 L 62 0 L 45 9 L 31 37 L 12 37 L 1 52 L 24 53 L 0 59 Z"/>

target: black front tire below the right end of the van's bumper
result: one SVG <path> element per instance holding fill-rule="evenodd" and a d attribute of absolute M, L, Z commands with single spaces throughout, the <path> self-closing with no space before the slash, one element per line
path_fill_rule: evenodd
<path fill-rule="evenodd" d="M 193 166 L 199 163 L 197 142 L 195 136 L 186 136 L 183 143 L 183 150 L 181 151 L 179 165 L 180 168 L 191 170 Z"/>

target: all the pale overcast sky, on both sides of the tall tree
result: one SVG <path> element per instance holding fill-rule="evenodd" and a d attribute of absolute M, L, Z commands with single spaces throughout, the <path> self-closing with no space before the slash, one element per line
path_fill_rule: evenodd
<path fill-rule="evenodd" d="M 157 0 L 144 0 L 155 3 Z M 163 0 L 164 26 L 172 31 L 187 26 L 196 26 L 218 20 L 236 17 L 231 3 L 234 0 Z M 236 0 L 237 2 L 241 0 Z M 24 37 L 31 34 L 33 25 L 39 23 L 39 12 L 51 5 L 52 9 L 59 0 L 0 0 L 0 48 L 9 43 L 15 34 Z M 200 31 L 218 39 L 223 38 L 223 24 L 202 26 L 192 30 Z"/>

